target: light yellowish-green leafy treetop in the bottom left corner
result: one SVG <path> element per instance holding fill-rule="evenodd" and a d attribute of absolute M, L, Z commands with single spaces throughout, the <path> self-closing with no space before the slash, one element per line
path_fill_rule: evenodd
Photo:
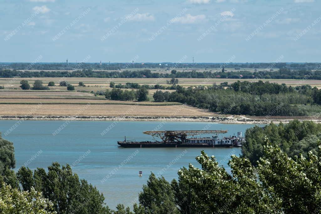
<path fill-rule="evenodd" d="M 4 214 L 43 213 L 53 214 L 53 204 L 31 187 L 30 191 L 20 191 L 4 183 L 0 188 L 0 211 Z"/>

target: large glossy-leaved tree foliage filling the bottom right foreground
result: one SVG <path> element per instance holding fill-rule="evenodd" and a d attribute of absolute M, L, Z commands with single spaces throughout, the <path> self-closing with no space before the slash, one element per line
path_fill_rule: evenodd
<path fill-rule="evenodd" d="M 174 189 L 184 201 L 177 203 L 181 213 L 319 213 L 320 148 L 317 155 L 309 152 L 308 159 L 292 159 L 265 143 L 256 168 L 246 158 L 232 156 L 230 175 L 202 151 L 196 158 L 201 168 L 190 164 L 179 170 Z"/>

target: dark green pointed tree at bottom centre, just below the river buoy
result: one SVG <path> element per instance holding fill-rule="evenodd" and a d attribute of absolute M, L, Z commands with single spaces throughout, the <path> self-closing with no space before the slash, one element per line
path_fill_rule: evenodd
<path fill-rule="evenodd" d="M 178 213 L 174 202 L 175 192 L 163 176 L 156 178 L 156 176 L 151 173 L 147 180 L 147 185 L 143 185 L 143 191 L 138 197 L 139 203 L 143 206 L 145 213 Z"/>

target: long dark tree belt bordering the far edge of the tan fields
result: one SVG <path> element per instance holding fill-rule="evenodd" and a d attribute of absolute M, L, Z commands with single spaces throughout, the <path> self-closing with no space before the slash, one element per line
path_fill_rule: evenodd
<path fill-rule="evenodd" d="M 314 68 L 316 69 L 316 68 Z M 166 73 L 151 72 L 150 69 L 139 71 L 93 71 L 91 69 L 82 69 L 72 72 L 68 71 L 29 71 L 24 72 L 9 69 L 0 69 L 0 77 L 95 77 L 95 78 L 230 78 L 230 79 L 297 79 L 297 80 L 321 80 L 321 70 L 291 70 L 289 68 L 281 68 L 278 71 L 230 71 L 219 72 L 203 71 L 168 71 Z"/>

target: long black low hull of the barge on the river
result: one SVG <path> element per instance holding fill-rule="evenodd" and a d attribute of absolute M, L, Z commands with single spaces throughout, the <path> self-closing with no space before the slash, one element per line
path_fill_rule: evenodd
<path fill-rule="evenodd" d="M 156 147 L 233 147 L 232 144 L 225 145 L 209 145 L 206 143 L 162 143 L 162 142 L 124 142 L 118 141 L 118 145 L 127 148 L 156 148 Z"/>

